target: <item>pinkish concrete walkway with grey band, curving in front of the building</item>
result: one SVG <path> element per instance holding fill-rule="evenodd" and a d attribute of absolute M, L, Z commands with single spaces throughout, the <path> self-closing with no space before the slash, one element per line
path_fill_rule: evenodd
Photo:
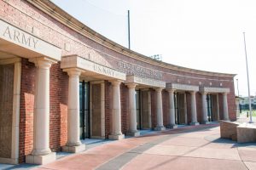
<path fill-rule="evenodd" d="M 123 139 L 36 169 L 256 169 L 256 144 L 219 139 L 218 125 Z"/>

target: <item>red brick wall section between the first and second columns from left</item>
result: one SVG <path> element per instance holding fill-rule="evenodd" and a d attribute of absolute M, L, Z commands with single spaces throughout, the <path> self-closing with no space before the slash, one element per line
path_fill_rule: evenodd
<path fill-rule="evenodd" d="M 60 63 L 49 71 L 49 147 L 60 151 L 67 143 L 68 76 Z"/>

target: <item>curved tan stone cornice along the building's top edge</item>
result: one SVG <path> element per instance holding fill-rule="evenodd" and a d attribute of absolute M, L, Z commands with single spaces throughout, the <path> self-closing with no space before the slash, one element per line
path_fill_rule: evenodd
<path fill-rule="evenodd" d="M 162 61 L 157 61 L 155 59 L 150 59 L 143 54 L 138 54 L 137 52 L 134 52 L 128 48 L 125 48 L 119 45 L 116 42 L 109 40 L 107 37 L 103 37 L 101 34 L 97 33 L 96 31 L 93 31 L 88 26 L 85 26 L 79 20 L 73 18 L 73 16 L 71 16 L 70 14 L 67 14 L 67 12 L 65 12 L 64 10 L 56 6 L 55 3 L 52 3 L 49 0 L 45 0 L 45 1 L 27 0 L 27 2 L 32 3 L 32 5 L 44 11 L 44 13 L 49 14 L 55 20 L 58 20 L 63 25 L 73 29 L 73 31 L 79 32 L 79 34 L 82 34 L 84 37 L 88 37 L 94 42 L 97 42 L 106 48 L 110 48 L 113 51 L 118 52 L 119 54 L 124 54 L 133 59 L 143 61 L 150 65 L 157 65 L 163 68 L 172 69 L 175 71 L 184 71 L 189 73 L 195 73 L 195 74 L 201 74 L 201 75 L 207 75 L 207 76 L 218 76 L 218 77 L 235 77 L 236 76 L 235 74 L 218 73 L 218 72 L 211 72 L 211 71 L 199 71 L 199 70 L 190 69 L 190 68 L 186 68 L 178 65 L 171 65 Z"/>

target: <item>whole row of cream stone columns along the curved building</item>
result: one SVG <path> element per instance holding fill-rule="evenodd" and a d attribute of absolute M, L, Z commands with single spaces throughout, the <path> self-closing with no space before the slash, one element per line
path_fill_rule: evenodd
<path fill-rule="evenodd" d="M 54 61 L 45 58 L 37 58 L 32 60 L 37 66 L 37 81 L 35 93 L 35 114 L 34 114 L 34 138 L 33 150 L 30 156 L 26 156 L 26 162 L 38 163 L 47 162 L 55 159 L 55 153 L 49 149 L 49 68 Z M 69 76 L 68 82 L 68 113 L 67 113 L 67 144 L 63 150 L 70 152 L 78 152 L 85 149 L 85 145 L 81 144 L 79 139 L 79 69 L 67 69 Z M 112 109 L 113 123 L 109 139 L 123 139 L 124 134 L 121 132 L 121 105 L 120 105 L 120 84 L 119 80 L 109 81 L 112 84 Z M 129 133 L 137 136 L 137 113 L 135 89 L 136 83 L 126 84 L 129 88 Z M 155 130 L 164 130 L 163 123 L 163 107 L 162 107 L 162 90 L 164 88 L 154 88 L 156 96 L 156 127 Z M 168 127 L 177 127 L 175 124 L 175 108 L 174 108 L 174 92 L 176 89 L 166 89 L 169 94 L 168 108 Z M 197 121 L 196 108 L 196 91 L 189 91 L 191 104 L 191 123 L 199 124 Z M 207 123 L 207 93 L 201 93 L 203 123 Z M 224 120 L 229 120 L 227 93 L 223 93 Z M 40 161 L 36 161 L 40 157 Z M 43 160 L 43 161 L 42 161 Z"/>

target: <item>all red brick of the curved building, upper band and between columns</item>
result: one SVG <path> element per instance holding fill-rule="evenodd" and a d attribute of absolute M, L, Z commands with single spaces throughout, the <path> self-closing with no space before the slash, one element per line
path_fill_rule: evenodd
<path fill-rule="evenodd" d="M 62 55 L 78 54 L 85 59 L 90 59 L 102 65 L 108 65 L 112 68 L 119 69 L 117 62 L 124 60 L 128 63 L 136 63 L 146 68 L 156 71 L 162 71 L 163 81 L 177 82 L 190 85 L 230 88 L 228 94 L 228 104 L 230 119 L 236 120 L 236 102 L 234 92 L 234 82 L 231 77 L 217 77 L 195 74 L 192 72 L 176 71 L 166 69 L 157 65 L 150 65 L 144 61 L 132 59 L 124 54 L 119 54 L 112 49 L 104 47 L 102 44 L 94 42 L 87 37 L 71 30 L 60 22 L 51 18 L 48 14 L 40 11 L 38 8 L 27 3 L 25 0 L 9 0 L 0 1 L 0 18 L 20 29 L 32 32 L 35 26 L 39 30 L 39 38 L 46 42 L 50 42 L 59 48 L 63 48 L 65 42 L 70 43 L 71 50 L 62 50 Z M 21 71 L 21 96 L 20 96 L 20 162 L 24 161 L 25 155 L 32 150 L 32 116 L 34 102 L 34 82 L 35 82 L 35 66 L 22 59 Z M 53 65 L 50 71 L 50 148 L 52 150 L 60 150 L 61 145 L 67 140 L 67 74 L 63 73 L 60 65 Z M 105 123 L 106 137 L 110 133 L 112 126 L 111 107 L 112 107 L 112 88 L 110 82 L 105 82 Z M 127 130 L 127 103 L 125 102 L 126 88 L 121 86 L 121 105 L 122 105 L 122 131 Z M 151 89 L 152 102 L 152 127 L 156 126 L 155 115 L 155 92 Z M 166 117 L 166 94 L 163 94 L 164 117 Z M 201 122 L 201 94 L 196 94 L 197 118 Z M 219 95 L 220 117 L 222 116 L 222 96 Z M 189 111 L 189 109 L 188 109 Z M 188 116 L 189 118 L 189 116 Z M 166 118 L 164 118 L 166 123 Z"/>

